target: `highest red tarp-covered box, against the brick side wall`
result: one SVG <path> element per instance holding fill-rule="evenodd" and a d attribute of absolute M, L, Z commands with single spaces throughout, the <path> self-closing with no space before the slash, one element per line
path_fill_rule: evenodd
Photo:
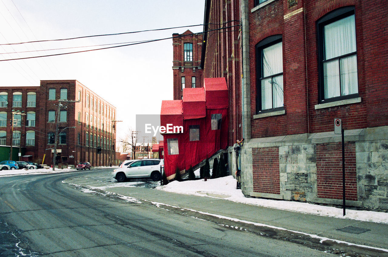
<path fill-rule="evenodd" d="M 206 109 L 228 108 L 228 86 L 225 78 L 205 78 Z"/>

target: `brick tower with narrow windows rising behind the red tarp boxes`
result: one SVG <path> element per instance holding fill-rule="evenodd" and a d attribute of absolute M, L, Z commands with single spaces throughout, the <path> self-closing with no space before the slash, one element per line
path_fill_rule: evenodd
<path fill-rule="evenodd" d="M 184 88 L 202 88 L 202 33 L 190 30 L 173 36 L 173 100 L 181 100 Z"/>

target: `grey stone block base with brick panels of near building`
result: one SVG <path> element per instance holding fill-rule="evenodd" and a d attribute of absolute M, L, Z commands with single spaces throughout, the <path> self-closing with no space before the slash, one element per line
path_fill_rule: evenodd
<path fill-rule="evenodd" d="M 274 152 L 278 152 L 279 180 L 272 178 L 277 167 L 272 165 L 268 178 L 274 185 L 258 188 L 256 174 L 265 176 L 265 165 L 274 163 Z M 388 126 L 345 131 L 345 175 L 346 205 L 388 211 Z M 241 150 L 241 181 L 248 197 L 341 205 L 341 135 L 324 132 L 251 139 Z M 265 186 L 265 181 L 259 182 Z M 274 186 L 279 186 L 279 193 L 271 191 Z"/>

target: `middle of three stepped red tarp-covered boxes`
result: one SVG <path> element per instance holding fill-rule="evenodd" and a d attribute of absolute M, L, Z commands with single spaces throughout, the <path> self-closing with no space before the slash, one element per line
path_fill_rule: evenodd
<path fill-rule="evenodd" d="M 198 119 L 206 116 L 204 88 L 183 89 L 183 119 Z"/>

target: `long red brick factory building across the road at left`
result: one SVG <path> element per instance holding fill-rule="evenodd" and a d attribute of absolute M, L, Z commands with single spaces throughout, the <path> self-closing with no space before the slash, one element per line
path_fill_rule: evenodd
<path fill-rule="evenodd" d="M 116 108 L 78 81 L 42 80 L 40 86 L 0 87 L 1 145 L 11 145 L 7 124 L 17 110 L 26 115 L 14 115 L 12 145 L 25 148 L 30 160 L 42 162 L 44 158 L 44 164 L 52 164 L 58 124 L 56 164 L 114 163 Z M 14 152 L 12 155 L 17 158 Z"/>

